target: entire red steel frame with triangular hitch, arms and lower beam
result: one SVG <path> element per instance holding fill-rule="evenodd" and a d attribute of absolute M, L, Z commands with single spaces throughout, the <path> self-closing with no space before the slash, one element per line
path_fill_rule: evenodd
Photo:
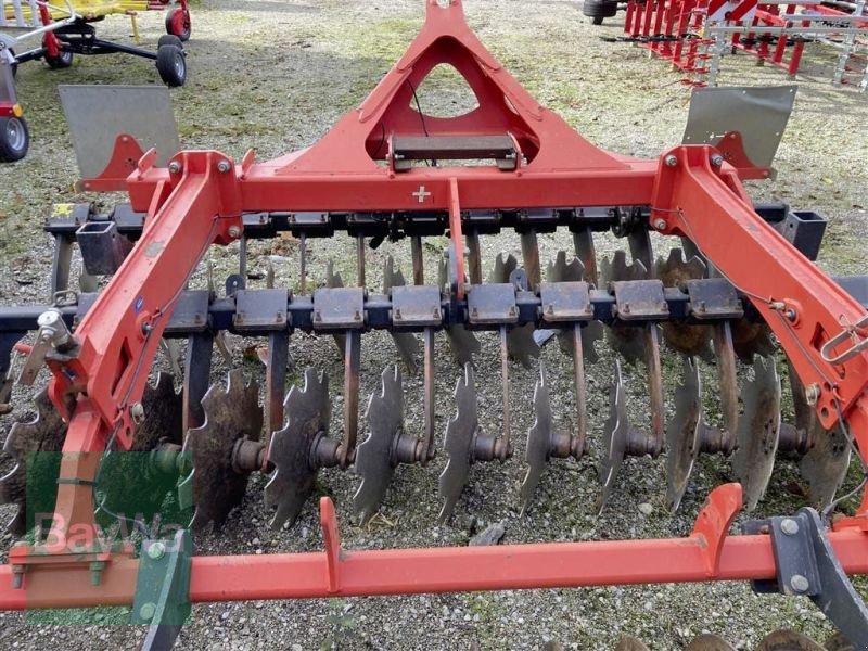
<path fill-rule="evenodd" d="M 650 205 L 658 230 L 689 237 L 750 297 L 802 382 L 818 388 L 824 426 L 843 419 L 866 458 L 868 352 L 852 352 L 841 363 L 821 353 L 842 333 L 847 341 L 832 355 L 868 337 L 859 326 L 866 311 L 754 213 L 739 171 L 716 165 L 716 150 L 703 145 L 677 146 L 656 161 L 595 148 L 485 50 L 464 23 L 460 0 L 426 0 L 426 11 L 407 53 L 312 148 L 266 163 L 248 153 L 238 164 L 219 152 L 187 151 L 166 168 L 155 167 L 149 152 L 131 170 L 116 151 L 104 174 L 87 181 L 93 189 L 126 189 L 133 209 L 148 218 L 140 242 L 78 326 L 77 358 L 50 362 L 49 393 L 69 423 L 63 483 L 48 541 L 14 546 L 10 564 L 0 566 L 0 608 L 131 602 L 138 561 L 128 549 L 99 547 L 89 482 L 113 436 L 118 448 L 129 448 L 130 405 L 141 398 L 174 301 L 207 246 L 241 235 L 245 210 L 448 210 L 450 237 L 463 251 L 462 209 Z M 425 117 L 427 132 L 509 132 L 525 164 L 514 171 L 403 173 L 384 164 L 393 133 L 421 135 L 412 88 L 439 63 L 467 78 L 480 106 L 458 118 Z M 457 291 L 463 292 L 460 283 Z M 341 550 L 327 500 L 324 552 L 196 557 L 190 595 L 216 601 L 771 577 L 768 535 L 728 535 L 740 507 L 738 485 L 717 488 L 688 538 L 356 552 Z M 829 539 L 847 573 L 868 573 L 868 498 Z M 104 564 L 99 586 L 91 585 L 92 562 Z"/>

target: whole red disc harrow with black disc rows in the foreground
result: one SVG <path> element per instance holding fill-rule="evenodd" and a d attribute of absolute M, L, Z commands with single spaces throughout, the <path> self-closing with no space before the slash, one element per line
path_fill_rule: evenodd
<path fill-rule="evenodd" d="M 191 602 L 752 580 L 757 590 L 812 598 L 855 648 L 868 643 L 868 611 L 847 580 L 868 572 L 864 483 L 839 497 L 851 459 L 865 473 L 868 279 L 830 279 L 810 261 L 820 215 L 750 200 L 741 178 L 770 170 L 748 133 L 723 127 L 713 140 L 691 137 L 654 159 L 604 152 L 518 85 L 467 27 L 460 2 L 425 5 L 425 25 L 405 56 L 316 145 L 265 163 L 253 152 L 233 161 L 183 151 L 157 165 L 155 151 L 118 132 L 113 154 L 81 188 L 126 190 L 129 203 L 103 215 L 81 205 L 49 224 L 53 304 L 0 310 L 0 403 L 15 381 L 51 371 L 36 418 L 14 425 L 5 446 L 18 463 L 0 484 L 2 497 L 17 505 L 13 525 L 29 536 L 0 567 L 0 608 L 130 604 L 135 622 L 151 625 L 146 643 L 163 648 Z M 477 108 L 455 118 L 419 110 L 416 89 L 437 64 L 461 74 Z M 728 102 L 750 97 L 715 92 L 710 103 L 729 114 L 738 112 Z M 791 97 L 784 89 L 777 103 L 771 103 L 786 123 Z M 516 234 L 522 260 L 498 256 L 486 282 L 482 242 L 501 231 Z M 570 232 L 572 250 L 544 269 L 539 242 L 558 231 Z M 626 240 L 629 261 L 623 251 L 598 260 L 603 231 Z M 277 286 L 273 277 L 248 286 L 247 243 L 280 233 L 298 243 L 293 286 Z M 308 246 L 344 233 L 359 253 L 355 284 L 332 272 L 315 286 Z M 652 233 L 680 238 L 680 248 L 655 256 Z M 447 235 L 438 268 L 426 267 L 424 244 Z M 71 282 L 75 244 L 88 277 L 79 288 Z M 241 254 L 219 292 L 207 270 L 197 272 L 213 244 Z M 407 279 L 387 261 L 374 286 L 369 250 L 404 244 L 412 258 Z M 111 280 L 97 293 L 91 277 L 102 276 Z M 240 370 L 212 383 L 212 350 L 226 331 L 267 339 L 257 352 L 266 362 L 261 398 Z M 362 419 L 362 340 L 378 331 L 421 383 L 407 386 L 408 397 L 400 366 L 375 369 L 379 388 Z M 333 337 L 340 350 L 340 416 L 332 417 L 330 379 L 318 369 L 284 393 L 288 342 L 303 333 Z M 486 333 L 500 343 L 495 431 L 477 419 L 478 387 L 495 381 L 474 369 Z M 180 394 L 165 374 L 149 381 L 166 368 L 156 359 L 164 339 L 187 342 Z M 570 413 L 552 401 L 552 383 L 563 379 L 537 360 L 546 339 L 569 359 Z M 435 358 L 443 340 L 455 366 Z M 620 361 L 609 418 L 591 423 L 586 367 L 600 363 L 603 340 Z M 662 342 L 682 369 L 668 411 Z M 789 369 L 776 363 L 778 344 Z M 535 419 L 522 437 L 522 511 L 542 474 L 558 472 L 558 459 L 591 452 L 598 512 L 618 492 L 627 457 L 665 450 L 673 510 L 703 454 L 730 455 L 739 484 L 716 488 L 685 538 L 354 551 L 341 547 L 334 506 L 322 498 L 323 552 L 194 556 L 187 523 L 167 537 L 145 526 L 138 554 L 127 540 L 106 540 L 106 523 L 151 523 L 173 495 L 181 511 L 193 510 L 192 529 L 219 526 L 254 474 L 266 477 L 272 526 L 288 526 L 310 508 L 326 469 L 359 475 L 354 511 L 369 521 L 400 465 L 441 456 L 436 499 L 448 522 L 467 508 L 481 467 L 519 448 L 513 362 L 538 376 L 532 404 L 519 406 Z M 640 423 L 625 381 L 637 367 L 649 395 Z M 712 390 L 703 369 L 716 378 Z M 781 417 L 781 371 L 795 405 L 791 423 Z M 441 451 L 435 378 L 444 373 L 457 383 L 455 405 L 443 410 Z M 719 416 L 709 412 L 710 395 Z M 420 406 L 418 420 L 405 420 L 405 405 Z M 596 450 L 591 430 L 600 434 Z M 742 506 L 763 499 L 778 452 L 799 460 L 819 510 L 731 534 Z M 802 643 L 774 635 L 766 649 Z M 717 638 L 701 643 L 727 648 Z"/>

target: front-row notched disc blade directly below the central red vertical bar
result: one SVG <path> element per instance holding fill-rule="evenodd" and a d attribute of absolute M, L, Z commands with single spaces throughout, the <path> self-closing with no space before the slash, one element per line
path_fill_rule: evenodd
<path fill-rule="evenodd" d="M 476 384 L 473 367 L 464 365 L 464 372 L 455 387 L 456 414 L 446 425 L 444 449 L 446 467 L 441 473 L 437 486 L 443 500 L 439 521 L 445 523 L 455 510 L 458 498 L 468 483 L 472 460 L 473 439 L 476 436 L 478 420 L 476 413 Z"/>

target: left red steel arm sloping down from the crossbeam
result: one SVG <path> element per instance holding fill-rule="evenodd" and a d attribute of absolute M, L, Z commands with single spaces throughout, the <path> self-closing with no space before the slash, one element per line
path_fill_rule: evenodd
<path fill-rule="evenodd" d="M 49 357 L 49 395 L 69 422 L 49 536 L 60 554 L 94 544 L 93 481 L 102 451 L 112 437 L 129 449 L 132 406 L 141 400 L 175 302 L 207 247 L 242 232 L 238 181 L 226 157 L 183 152 L 169 168 L 139 245 L 76 330 L 76 349 Z"/>

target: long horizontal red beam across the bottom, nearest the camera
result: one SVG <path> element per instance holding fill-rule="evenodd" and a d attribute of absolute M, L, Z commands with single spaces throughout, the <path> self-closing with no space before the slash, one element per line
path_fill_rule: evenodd
<path fill-rule="evenodd" d="M 868 574 L 868 533 L 832 532 L 829 539 L 847 574 Z M 605 585 L 746 580 L 775 576 L 770 538 L 729 536 L 719 570 L 709 571 L 698 538 L 548 542 L 342 551 L 330 589 L 327 553 L 195 557 L 193 602 L 468 592 Z M 100 586 L 87 566 L 35 569 L 25 589 L 12 589 L 12 569 L 0 566 L 0 610 L 130 604 L 138 561 L 114 561 Z"/>

